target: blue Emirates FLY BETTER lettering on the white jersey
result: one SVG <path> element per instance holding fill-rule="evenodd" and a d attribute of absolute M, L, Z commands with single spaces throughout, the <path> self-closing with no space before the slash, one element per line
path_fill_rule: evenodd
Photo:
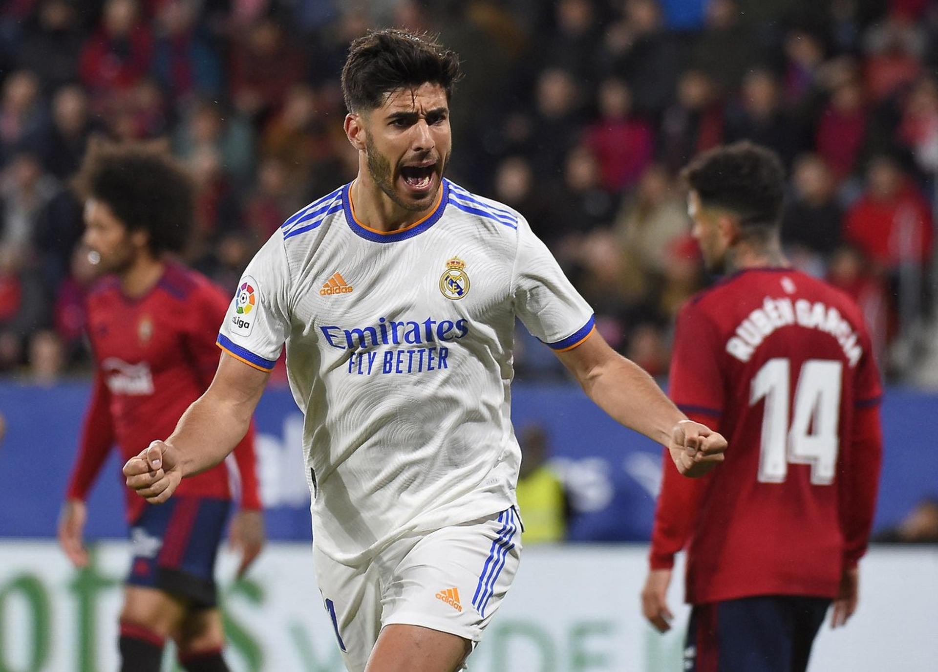
<path fill-rule="evenodd" d="M 464 318 L 434 320 L 428 317 L 422 322 L 417 322 L 380 317 L 374 327 L 342 328 L 337 325 L 324 325 L 320 330 L 325 336 L 325 342 L 332 347 L 355 350 L 349 358 L 349 374 L 422 374 L 449 368 L 449 348 L 446 345 L 431 344 L 458 341 L 469 333 L 469 325 Z M 378 351 L 369 348 L 381 345 L 425 347 L 386 349 L 379 363 Z"/>

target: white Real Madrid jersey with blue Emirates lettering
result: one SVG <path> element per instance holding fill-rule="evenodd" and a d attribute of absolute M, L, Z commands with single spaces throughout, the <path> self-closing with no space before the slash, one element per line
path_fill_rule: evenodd
<path fill-rule="evenodd" d="M 219 345 L 270 370 L 286 344 L 313 541 L 355 564 L 401 534 L 515 503 L 515 318 L 556 350 L 594 318 L 515 210 L 444 180 L 428 217 L 382 233 L 356 220 L 349 190 L 265 243 Z"/>

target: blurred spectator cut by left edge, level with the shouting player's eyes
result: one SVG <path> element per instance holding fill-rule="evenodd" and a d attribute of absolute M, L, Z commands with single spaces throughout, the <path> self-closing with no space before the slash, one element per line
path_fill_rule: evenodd
<path fill-rule="evenodd" d="M 0 167 L 15 151 L 35 148 L 47 122 L 36 75 L 29 70 L 10 73 L 0 99 Z"/>

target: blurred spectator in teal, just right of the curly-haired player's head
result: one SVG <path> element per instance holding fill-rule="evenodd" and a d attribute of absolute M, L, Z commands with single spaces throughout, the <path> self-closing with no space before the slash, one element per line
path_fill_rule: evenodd
<path fill-rule="evenodd" d="M 208 100 L 192 103 L 176 126 L 173 151 L 189 159 L 204 150 L 219 154 L 222 167 L 239 184 L 248 182 L 254 163 L 254 130 L 248 119 L 236 112 L 224 113 Z"/>

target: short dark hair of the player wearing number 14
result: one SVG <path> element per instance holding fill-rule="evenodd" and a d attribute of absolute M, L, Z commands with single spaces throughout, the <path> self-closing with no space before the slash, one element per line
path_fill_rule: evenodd
<path fill-rule="evenodd" d="M 744 229 L 779 226 L 785 169 L 771 149 L 746 140 L 714 147 L 692 160 L 681 176 L 703 206 L 730 210 Z"/>

